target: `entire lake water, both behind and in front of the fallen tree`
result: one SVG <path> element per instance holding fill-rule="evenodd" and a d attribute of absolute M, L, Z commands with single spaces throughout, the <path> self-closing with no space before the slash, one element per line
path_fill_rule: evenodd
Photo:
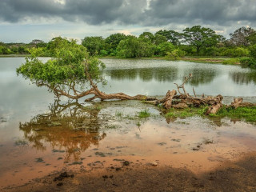
<path fill-rule="evenodd" d="M 253 69 L 161 60 L 102 61 L 108 84 L 100 90 L 106 93 L 161 96 L 192 73 L 194 78 L 186 84 L 190 93 L 194 87 L 197 94 L 243 96 L 255 102 Z M 22 62 L 24 58 L 0 58 L 0 189 L 56 170 L 116 166 L 117 158 L 186 165 L 197 173 L 256 150 L 256 127 L 246 122 L 166 119 L 158 108 L 138 101 L 57 101 L 46 88 L 17 76 L 15 69 Z M 145 109 L 151 117 L 138 118 Z"/>

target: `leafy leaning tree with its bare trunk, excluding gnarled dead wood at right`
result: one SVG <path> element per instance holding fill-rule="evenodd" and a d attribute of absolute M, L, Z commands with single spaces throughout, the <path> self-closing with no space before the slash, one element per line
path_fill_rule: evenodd
<path fill-rule="evenodd" d="M 34 51 L 26 58 L 26 63 L 18 67 L 17 73 L 29 78 L 37 86 L 47 86 L 58 98 L 66 96 L 78 99 L 94 95 L 86 101 L 94 98 L 146 99 L 143 95 L 131 97 L 123 93 L 103 93 L 97 86 L 98 83 L 105 83 L 100 71 L 101 67 L 104 68 L 101 61 L 91 57 L 86 48 L 74 40 L 55 38 L 50 44 L 58 45 L 52 59 L 44 63 L 37 58 L 40 51 Z"/>

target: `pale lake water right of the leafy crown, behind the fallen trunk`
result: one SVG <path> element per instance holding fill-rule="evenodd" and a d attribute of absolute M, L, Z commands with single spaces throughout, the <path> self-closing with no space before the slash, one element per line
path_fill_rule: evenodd
<path fill-rule="evenodd" d="M 256 96 L 256 70 L 219 64 L 172 62 L 162 60 L 102 59 L 106 63 L 108 93 L 165 95 L 176 89 L 182 79 L 193 74 L 186 90 L 193 94 Z"/>

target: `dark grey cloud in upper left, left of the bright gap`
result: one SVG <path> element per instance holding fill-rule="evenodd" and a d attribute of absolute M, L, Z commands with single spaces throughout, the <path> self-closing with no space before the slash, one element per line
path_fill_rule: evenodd
<path fill-rule="evenodd" d="M 145 6 L 146 0 L 1 0 L 0 19 L 20 22 L 26 18 L 63 18 L 92 25 L 134 24 L 142 17 L 142 7 Z"/>

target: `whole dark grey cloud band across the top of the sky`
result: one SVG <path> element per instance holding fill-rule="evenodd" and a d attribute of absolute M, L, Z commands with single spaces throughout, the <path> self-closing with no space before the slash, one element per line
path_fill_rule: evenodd
<path fill-rule="evenodd" d="M 1 0 L 0 20 L 21 22 L 62 18 L 90 25 L 212 24 L 230 26 L 246 21 L 255 25 L 255 0 Z M 150 4 L 147 4 L 150 2 Z"/>

